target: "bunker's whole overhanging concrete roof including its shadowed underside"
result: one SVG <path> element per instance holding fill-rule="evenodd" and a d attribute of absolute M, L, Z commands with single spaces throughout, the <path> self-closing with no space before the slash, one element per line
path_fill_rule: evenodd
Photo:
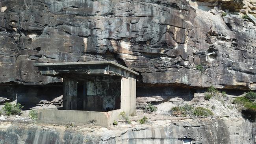
<path fill-rule="evenodd" d="M 135 77 L 139 73 L 113 61 L 87 61 L 67 63 L 35 63 L 41 75 L 53 77 L 80 77 L 85 75 L 109 75 Z"/>

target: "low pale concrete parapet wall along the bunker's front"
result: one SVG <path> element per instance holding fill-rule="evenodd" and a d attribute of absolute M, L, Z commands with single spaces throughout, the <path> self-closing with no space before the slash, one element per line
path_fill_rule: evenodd
<path fill-rule="evenodd" d="M 44 124 L 74 124 L 108 127 L 119 118 L 120 109 L 108 112 L 66 111 L 58 109 L 38 109 L 38 122 Z"/>

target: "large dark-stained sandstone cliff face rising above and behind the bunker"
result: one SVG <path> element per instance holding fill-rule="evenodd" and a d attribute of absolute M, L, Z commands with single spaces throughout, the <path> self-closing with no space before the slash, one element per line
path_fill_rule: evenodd
<path fill-rule="evenodd" d="M 213 6 L 230 13 L 250 3 L 254 13 L 253 1 L 217 2 Z M 237 15 L 221 17 L 221 10 L 201 10 L 209 3 L 2 0 L 0 83 L 60 81 L 40 76 L 33 63 L 113 60 L 140 72 L 142 83 L 255 90 L 255 25 Z"/>

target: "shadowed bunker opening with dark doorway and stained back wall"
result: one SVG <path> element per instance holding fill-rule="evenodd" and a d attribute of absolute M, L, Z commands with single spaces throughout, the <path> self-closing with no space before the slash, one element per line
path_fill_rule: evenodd
<path fill-rule="evenodd" d="M 78 81 L 80 111 L 112 111 L 121 107 L 121 77 L 93 76 Z"/>

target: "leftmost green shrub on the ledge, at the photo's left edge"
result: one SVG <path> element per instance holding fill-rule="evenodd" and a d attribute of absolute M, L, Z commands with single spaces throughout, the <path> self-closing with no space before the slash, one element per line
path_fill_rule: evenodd
<path fill-rule="evenodd" d="M 9 115 L 19 115 L 21 114 L 21 109 L 23 108 L 23 106 L 20 105 L 20 103 L 17 104 L 12 104 L 12 103 L 8 103 L 6 102 L 6 104 L 3 107 L 3 111 L 4 113 L 9 116 Z"/>

